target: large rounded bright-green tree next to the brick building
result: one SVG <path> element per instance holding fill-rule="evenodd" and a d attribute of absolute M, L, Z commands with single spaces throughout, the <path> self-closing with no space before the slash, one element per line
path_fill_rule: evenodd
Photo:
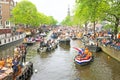
<path fill-rule="evenodd" d="M 19 2 L 12 10 L 12 15 L 11 21 L 15 24 L 39 25 L 36 6 L 27 0 Z"/>

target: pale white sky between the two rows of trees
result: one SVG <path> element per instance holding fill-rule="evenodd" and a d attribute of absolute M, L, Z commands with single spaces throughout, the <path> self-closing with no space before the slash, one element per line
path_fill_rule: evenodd
<path fill-rule="evenodd" d="M 21 1 L 21 0 L 14 0 Z M 36 5 L 38 12 L 42 12 L 47 16 L 53 16 L 58 22 L 61 22 L 68 12 L 72 15 L 75 0 L 29 0 Z"/>

